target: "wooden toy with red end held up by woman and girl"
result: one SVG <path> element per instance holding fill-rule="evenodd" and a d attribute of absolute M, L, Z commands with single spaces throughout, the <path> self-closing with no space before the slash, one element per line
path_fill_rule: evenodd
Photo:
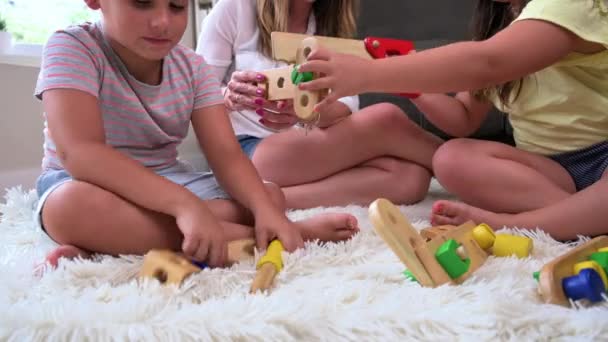
<path fill-rule="evenodd" d="M 297 65 L 306 61 L 308 55 L 317 47 L 323 46 L 335 52 L 346 53 L 366 59 L 386 58 L 394 55 L 406 55 L 413 50 L 410 41 L 368 37 L 365 40 L 309 36 L 303 34 L 272 32 L 272 57 L 275 60 L 290 64 L 284 68 L 266 70 L 266 82 L 258 86 L 266 91 L 268 100 L 293 99 L 296 115 L 303 121 L 312 122 L 316 118 L 314 106 L 327 94 L 298 89 L 297 84 L 315 77 L 307 73 L 300 74 Z M 416 97 L 418 94 L 401 94 Z"/>

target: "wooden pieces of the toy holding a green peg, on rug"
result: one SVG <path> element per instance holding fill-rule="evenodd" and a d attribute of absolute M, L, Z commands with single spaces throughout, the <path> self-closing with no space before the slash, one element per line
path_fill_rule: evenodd
<path fill-rule="evenodd" d="M 452 229 L 442 229 L 443 234 L 435 233 L 427 242 L 399 208 L 386 199 L 374 201 L 370 205 L 369 215 L 375 230 L 422 286 L 461 283 L 487 259 L 487 253 L 473 239 L 472 230 L 475 224 L 472 222 Z M 455 240 L 460 244 L 460 258 L 470 260 L 468 270 L 454 279 L 448 275 L 435 256 L 438 249 L 448 240 Z"/>

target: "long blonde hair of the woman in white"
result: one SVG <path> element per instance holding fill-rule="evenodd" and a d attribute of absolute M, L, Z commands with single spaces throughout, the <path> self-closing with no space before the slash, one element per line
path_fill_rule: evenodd
<path fill-rule="evenodd" d="M 287 0 L 257 0 L 257 21 L 260 28 L 260 50 L 271 57 L 270 33 L 286 32 L 289 18 Z M 316 35 L 352 38 L 357 31 L 358 0 L 317 0 L 313 11 L 317 20 Z"/>

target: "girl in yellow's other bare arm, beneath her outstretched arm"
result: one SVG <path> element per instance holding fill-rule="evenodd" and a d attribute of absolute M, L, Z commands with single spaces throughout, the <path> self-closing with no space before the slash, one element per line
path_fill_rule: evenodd
<path fill-rule="evenodd" d="M 423 94 L 412 102 L 431 123 L 454 137 L 475 133 L 492 108 L 491 103 L 477 100 L 469 92 L 455 97 Z"/>

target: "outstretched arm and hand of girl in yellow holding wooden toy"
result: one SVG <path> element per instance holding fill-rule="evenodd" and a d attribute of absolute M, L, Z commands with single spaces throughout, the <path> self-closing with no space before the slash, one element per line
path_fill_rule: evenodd
<path fill-rule="evenodd" d="M 575 50 L 577 37 L 557 25 L 523 20 L 480 42 L 461 42 L 406 56 L 364 60 L 313 51 L 300 72 L 323 74 L 301 89 L 331 89 L 319 109 L 365 92 L 446 93 L 482 89 L 522 78 Z M 365 72 L 362 72 L 365 70 Z"/>

